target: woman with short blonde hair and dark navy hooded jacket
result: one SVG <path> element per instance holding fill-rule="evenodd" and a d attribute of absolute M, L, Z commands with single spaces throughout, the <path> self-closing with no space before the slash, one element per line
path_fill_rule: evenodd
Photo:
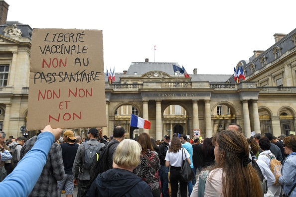
<path fill-rule="evenodd" d="M 131 139 L 119 143 L 113 156 L 113 169 L 98 175 L 87 197 L 152 197 L 148 184 L 133 170 L 141 163 L 142 147 Z"/>

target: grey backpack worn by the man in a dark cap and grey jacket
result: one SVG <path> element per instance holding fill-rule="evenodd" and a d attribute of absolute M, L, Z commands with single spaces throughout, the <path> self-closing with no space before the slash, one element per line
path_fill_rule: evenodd
<path fill-rule="evenodd" d="M 100 151 L 101 147 L 103 146 L 102 143 L 94 146 L 92 144 L 88 144 L 87 142 L 82 143 L 84 145 L 84 169 L 90 170 L 94 158 L 97 152 Z"/>

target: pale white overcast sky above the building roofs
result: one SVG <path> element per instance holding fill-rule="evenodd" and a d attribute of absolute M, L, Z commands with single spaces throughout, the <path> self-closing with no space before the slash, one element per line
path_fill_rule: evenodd
<path fill-rule="evenodd" d="M 296 0 L 5 0 L 7 21 L 101 29 L 104 72 L 176 62 L 188 74 L 233 74 L 240 60 L 296 28 Z M 155 52 L 154 52 L 154 45 Z"/>

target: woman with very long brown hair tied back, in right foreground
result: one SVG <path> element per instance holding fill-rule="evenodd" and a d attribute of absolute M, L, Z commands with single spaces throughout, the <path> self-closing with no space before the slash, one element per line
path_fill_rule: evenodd
<path fill-rule="evenodd" d="M 200 173 L 191 196 L 263 197 L 259 176 L 250 164 L 245 136 L 223 130 L 213 137 L 213 144 L 216 165 Z"/>

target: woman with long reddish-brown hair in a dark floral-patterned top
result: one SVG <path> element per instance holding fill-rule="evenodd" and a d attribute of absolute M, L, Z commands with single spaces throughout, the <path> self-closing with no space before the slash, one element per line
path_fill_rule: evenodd
<path fill-rule="evenodd" d="M 160 161 L 158 154 L 154 151 L 148 133 L 141 133 L 137 141 L 142 146 L 141 163 L 133 173 L 145 181 L 151 188 L 153 197 L 160 197 L 160 185 L 158 170 Z"/>

